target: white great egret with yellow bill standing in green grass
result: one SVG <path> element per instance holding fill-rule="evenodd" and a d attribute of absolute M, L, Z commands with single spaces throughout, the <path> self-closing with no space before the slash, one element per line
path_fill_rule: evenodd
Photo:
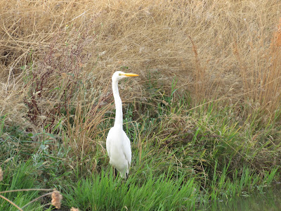
<path fill-rule="evenodd" d="M 108 132 L 106 139 L 106 150 L 110 157 L 110 164 L 126 179 L 131 165 L 131 143 L 123 130 L 122 101 L 119 96 L 118 82 L 125 77 L 138 76 L 134 73 L 117 71 L 112 75 L 112 91 L 115 99 L 115 124 Z"/>

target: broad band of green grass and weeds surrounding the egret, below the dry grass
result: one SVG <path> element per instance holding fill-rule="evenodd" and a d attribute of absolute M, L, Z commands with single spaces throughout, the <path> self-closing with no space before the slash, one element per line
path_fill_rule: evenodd
<path fill-rule="evenodd" d="M 263 120 L 261 113 L 245 117 L 237 105 L 221 102 L 192 107 L 192 97 L 175 88 L 176 80 L 168 90 L 155 80 L 144 87 L 147 101 L 124 103 L 133 153 L 129 179 L 112 178 L 105 153 L 114 113 L 105 113 L 91 136 L 91 150 L 84 152 L 72 147 L 75 140 L 67 136 L 63 117 L 51 132 L 37 134 L 7 127 L 2 117 L 1 191 L 57 188 L 65 209 L 206 210 L 210 201 L 262 193 L 280 180 L 280 113 Z M 87 109 L 79 111 L 83 122 Z M 4 196 L 23 206 L 42 194 Z M 16 210 L 0 201 L 6 210 Z M 26 210 L 46 210 L 50 202 L 40 198 Z"/>

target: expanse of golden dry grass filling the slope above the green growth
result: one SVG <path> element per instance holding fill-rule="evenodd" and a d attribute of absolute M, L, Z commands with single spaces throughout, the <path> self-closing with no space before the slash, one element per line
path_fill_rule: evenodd
<path fill-rule="evenodd" d="M 1 0 L 0 8 L 7 122 L 55 125 L 54 113 L 79 102 L 79 82 L 103 90 L 122 66 L 166 84 L 176 76 L 197 102 L 244 98 L 269 113 L 279 105 L 280 1 Z"/>

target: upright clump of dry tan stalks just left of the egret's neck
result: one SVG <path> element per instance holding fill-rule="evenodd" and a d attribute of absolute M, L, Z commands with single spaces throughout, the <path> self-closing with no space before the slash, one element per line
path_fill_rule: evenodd
<path fill-rule="evenodd" d="M 94 151 L 98 141 L 98 126 L 105 120 L 105 113 L 110 108 L 112 92 L 110 80 L 100 75 L 90 75 L 84 81 L 89 86 L 80 87 L 74 113 L 67 113 L 67 139 L 75 154 L 81 158 L 89 151 Z"/>

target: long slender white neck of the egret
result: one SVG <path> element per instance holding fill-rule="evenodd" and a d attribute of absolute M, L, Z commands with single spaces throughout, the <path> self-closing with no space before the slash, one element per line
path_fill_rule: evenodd
<path fill-rule="evenodd" d="M 122 101 L 119 96 L 118 82 L 117 80 L 112 81 L 112 91 L 115 98 L 115 127 L 123 127 L 123 112 L 122 112 Z"/>

